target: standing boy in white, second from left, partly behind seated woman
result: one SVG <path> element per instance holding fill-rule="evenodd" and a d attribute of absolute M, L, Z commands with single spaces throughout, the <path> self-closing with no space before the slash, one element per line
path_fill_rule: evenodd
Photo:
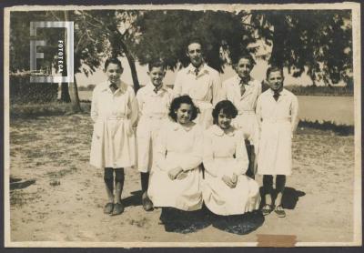
<path fill-rule="evenodd" d="M 172 100 L 172 90 L 162 83 L 165 75 L 165 66 L 161 61 L 149 63 L 150 82 L 136 94 L 139 108 L 139 122 L 136 127 L 137 168 L 143 192 L 142 203 L 146 211 L 153 209 L 153 203 L 147 196 L 147 188 L 156 139 L 160 127 L 168 119 L 168 108 Z"/>

